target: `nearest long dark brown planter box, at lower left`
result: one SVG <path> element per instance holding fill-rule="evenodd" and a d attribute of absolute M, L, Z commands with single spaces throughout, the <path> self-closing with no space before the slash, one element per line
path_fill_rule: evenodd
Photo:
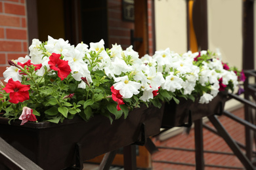
<path fill-rule="evenodd" d="M 96 115 L 89 122 L 79 117 L 62 124 L 20 121 L 9 125 L 0 118 L 0 136 L 43 169 L 64 169 L 75 164 L 75 147 L 81 146 L 81 159 L 89 160 L 160 133 L 163 109 L 141 107 L 123 117 L 110 120 Z M 142 124 L 144 133 L 142 133 Z"/>

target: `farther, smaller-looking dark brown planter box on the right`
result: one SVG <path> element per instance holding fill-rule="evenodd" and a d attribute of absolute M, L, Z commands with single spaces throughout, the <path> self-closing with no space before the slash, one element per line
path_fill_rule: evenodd
<path fill-rule="evenodd" d="M 177 105 L 175 101 L 165 103 L 162 127 L 191 126 L 192 122 L 209 116 L 211 114 L 222 114 L 224 104 L 228 100 L 227 92 L 219 92 L 212 101 L 207 104 L 200 104 L 198 101 L 179 99 Z"/>

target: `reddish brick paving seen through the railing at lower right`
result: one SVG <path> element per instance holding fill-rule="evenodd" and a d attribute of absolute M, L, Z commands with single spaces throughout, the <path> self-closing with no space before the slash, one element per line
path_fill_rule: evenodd
<path fill-rule="evenodd" d="M 244 108 L 235 110 L 232 112 L 234 115 L 244 118 Z M 245 135 L 244 135 L 244 126 L 238 124 L 234 120 L 227 118 L 226 116 L 220 116 L 219 120 L 221 124 L 225 127 L 226 131 L 230 134 L 230 136 L 236 141 L 245 144 Z M 207 122 L 208 126 L 213 127 L 211 122 Z M 194 149 L 194 130 L 191 129 L 190 133 L 186 135 L 185 133 L 181 133 L 176 135 L 175 137 L 171 137 L 165 141 L 158 141 L 156 138 L 153 139 L 156 146 L 169 146 L 169 147 L 177 147 L 177 148 L 189 148 Z M 203 128 L 203 150 L 211 150 L 211 151 L 219 151 L 219 152 L 229 152 L 232 153 L 228 144 L 224 142 L 224 140 L 211 133 L 207 129 Z M 173 162 L 183 162 L 183 163 L 192 163 L 195 164 L 195 153 L 189 151 L 181 151 L 181 150 L 171 150 L 171 149 L 160 149 L 160 152 L 156 152 L 152 156 L 152 160 L 165 160 L 165 161 L 173 161 Z M 236 156 L 234 155 L 226 155 L 226 154 L 212 154 L 212 153 L 204 153 L 204 161 L 205 164 L 208 165 L 222 165 L 229 167 L 243 167 L 242 163 Z M 154 170 L 194 170 L 194 166 L 188 165 L 175 165 L 169 163 L 156 163 L 153 162 Z M 223 168 L 217 167 L 205 167 L 205 170 L 226 170 Z"/>

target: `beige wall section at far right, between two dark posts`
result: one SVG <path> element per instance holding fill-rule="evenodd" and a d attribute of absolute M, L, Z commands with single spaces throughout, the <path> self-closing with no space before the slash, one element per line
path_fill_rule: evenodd
<path fill-rule="evenodd" d="M 242 69 L 242 1 L 208 0 L 209 49 L 219 48 L 223 61 Z"/>

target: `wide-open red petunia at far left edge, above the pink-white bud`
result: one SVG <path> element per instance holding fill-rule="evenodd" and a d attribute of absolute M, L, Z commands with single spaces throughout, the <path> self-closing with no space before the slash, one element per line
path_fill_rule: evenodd
<path fill-rule="evenodd" d="M 10 93 L 10 102 L 17 104 L 18 102 L 23 102 L 30 99 L 30 85 L 21 84 L 19 81 L 8 80 L 7 85 L 3 88 L 5 92 Z"/>

